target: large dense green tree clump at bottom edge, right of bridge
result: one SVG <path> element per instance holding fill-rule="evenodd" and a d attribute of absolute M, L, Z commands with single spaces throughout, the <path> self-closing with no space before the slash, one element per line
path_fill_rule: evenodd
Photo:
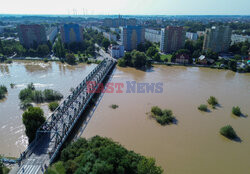
<path fill-rule="evenodd" d="M 78 139 L 62 150 L 59 160 L 58 163 L 65 168 L 66 173 L 163 173 L 154 159 L 128 151 L 111 139 L 100 136 L 89 140 Z"/>

